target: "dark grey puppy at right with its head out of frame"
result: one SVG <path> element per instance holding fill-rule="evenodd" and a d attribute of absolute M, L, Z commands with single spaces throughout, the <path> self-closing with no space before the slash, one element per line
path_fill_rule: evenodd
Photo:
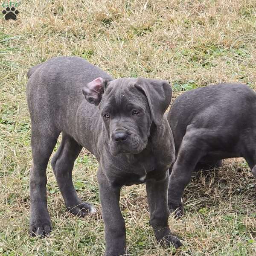
<path fill-rule="evenodd" d="M 183 93 L 167 119 L 175 141 L 169 209 L 183 213 L 181 197 L 193 171 L 244 157 L 256 178 L 256 93 L 244 84 L 209 85 Z"/>

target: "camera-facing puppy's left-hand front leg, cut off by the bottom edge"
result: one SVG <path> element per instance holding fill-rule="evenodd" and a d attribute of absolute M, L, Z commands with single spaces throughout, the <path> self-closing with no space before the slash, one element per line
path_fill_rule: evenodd
<path fill-rule="evenodd" d="M 125 244 L 125 220 L 119 207 L 121 187 L 111 186 L 101 169 L 98 174 L 99 197 L 105 226 L 105 256 L 127 255 Z"/>

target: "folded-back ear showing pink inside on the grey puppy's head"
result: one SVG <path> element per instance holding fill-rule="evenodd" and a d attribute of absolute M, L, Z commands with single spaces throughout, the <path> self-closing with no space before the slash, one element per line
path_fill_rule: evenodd
<path fill-rule="evenodd" d="M 99 102 L 102 100 L 102 95 L 109 81 L 111 81 L 111 79 L 103 79 L 102 77 L 98 77 L 86 84 L 82 88 L 82 92 L 87 102 L 98 106 Z"/>

